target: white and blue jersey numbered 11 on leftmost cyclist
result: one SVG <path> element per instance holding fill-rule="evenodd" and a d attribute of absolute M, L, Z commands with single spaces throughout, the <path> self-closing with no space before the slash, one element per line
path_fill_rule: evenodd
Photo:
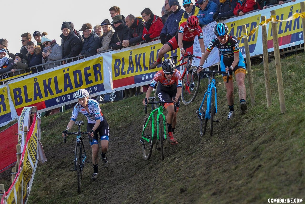
<path fill-rule="evenodd" d="M 73 108 L 71 120 L 76 121 L 78 113 L 82 113 L 84 116 L 87 117 L 88 123 L 95 123 L 96 120 L 101 120 L 102 122 L 103 114 L 101 112 L 101 108 L 99 107 L 99 103 L 93 99 L 88 99 L 87 106 L 90 113 L 88 113 L 87 110 L 80 103 L 77 103 Z"/>

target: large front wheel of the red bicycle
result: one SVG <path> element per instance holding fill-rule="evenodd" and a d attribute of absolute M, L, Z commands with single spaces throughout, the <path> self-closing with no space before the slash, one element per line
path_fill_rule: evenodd
<path fill-rule="evenodd" d="M 197 67 L 192 66 L 182 81 L 181 100 L 184 105 L 188 105 L 194 101 L 199 90 L 199 83 Z"/>

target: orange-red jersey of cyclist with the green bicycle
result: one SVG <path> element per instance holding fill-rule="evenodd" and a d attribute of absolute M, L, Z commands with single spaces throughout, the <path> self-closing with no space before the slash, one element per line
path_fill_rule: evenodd
<path fill-rule="evenodd" d="M 174 74 L 170 80 L 165 78 L 163 70 L 160 70 L 155 74 L 149 86 L 155 88 L 158 81 L 161 83 L 162 91 L 173 91 L 178 87 L 182 87 L 181 75 L 177 69 L 175 69 Z"/>

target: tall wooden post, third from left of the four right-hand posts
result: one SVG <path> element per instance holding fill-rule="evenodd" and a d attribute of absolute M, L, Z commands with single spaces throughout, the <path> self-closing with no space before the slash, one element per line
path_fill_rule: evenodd
<path fill-rule="evenodd" d="M 275 10 L 270 11 L 271 18 L 275 16 Z M 285 106 L 285 97 L 284 97 L 284 86 L 283 86 L 283 78 L 282 78 L 282 67 L 281 67 L 281 58 L 280 58 L 280 50 L 278 46 L 278 26 L 277 23 L 271 22 L 272 26 L 272 39 L 273 39 L 273 48 L 274 48 L 274 59 L 275 59 L 275 69 L 276 69 L 276 78 L 278 81 L 278 97 L 280 100 L 281 113 L 286 112 Z"/>

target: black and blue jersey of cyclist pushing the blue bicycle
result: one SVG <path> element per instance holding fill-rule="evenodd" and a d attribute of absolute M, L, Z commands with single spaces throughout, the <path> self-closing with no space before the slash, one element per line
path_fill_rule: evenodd
<path fill-rule="evenodd" d="M 228 42 L 222 44 L 218 38 L 214 38 L 206 48 L 206 51 L 211 52 L 214 47 L 217 47 L 219 52 L 224 56 L 224 59 L 234 59 L 234 53 L 239 52 L 239 42 L 234 35 L 228 35 Z"/>

